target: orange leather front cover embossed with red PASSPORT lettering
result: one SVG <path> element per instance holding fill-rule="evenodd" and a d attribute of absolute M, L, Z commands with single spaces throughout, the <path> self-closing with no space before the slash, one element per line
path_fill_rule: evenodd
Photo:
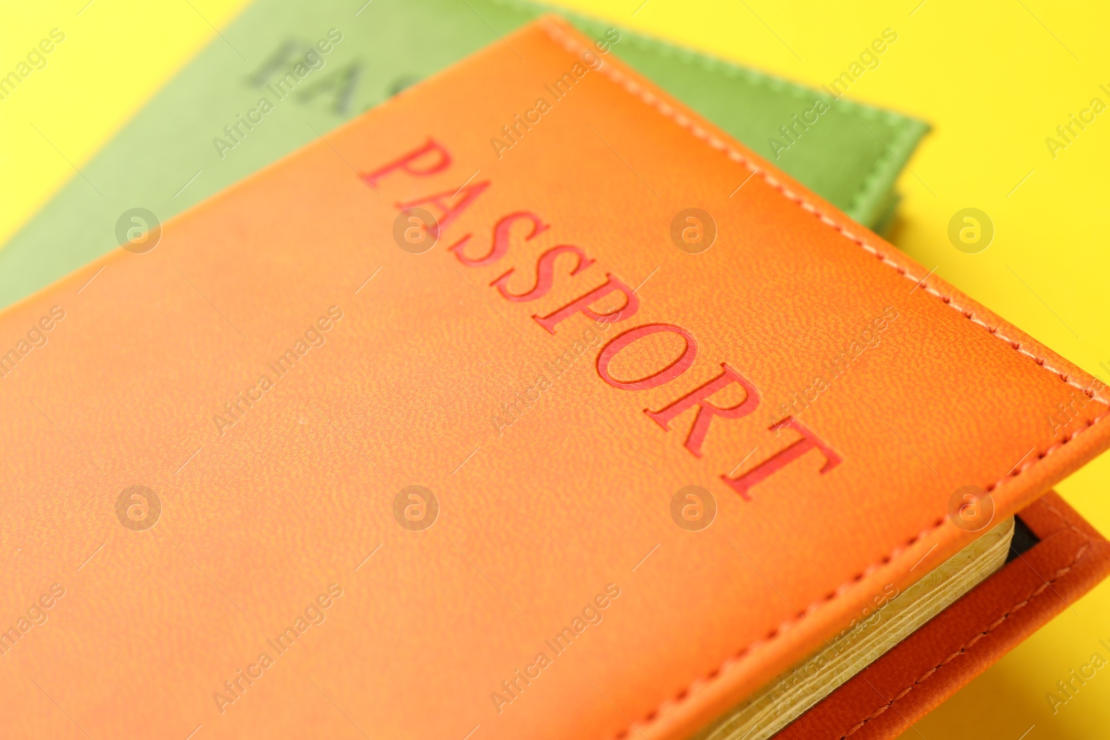
<path fill-rule="evenodd" d="M 7 737 L 682 738 L 1110 444 L 552 18 L 132 251 L 0 317 Z"/>

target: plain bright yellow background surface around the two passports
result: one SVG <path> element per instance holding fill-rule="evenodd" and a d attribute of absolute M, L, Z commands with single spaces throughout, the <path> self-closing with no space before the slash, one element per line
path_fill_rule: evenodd
<path fill-rule="evenodd" d="M 52 28 L 67 38 L 46 69 L 0 101 L 0 242 L 67 179 L 80 176 L 74 166 L 212 38 L 213 26 L 226 23 L 245 4 L 190 2 L 93 0 L 85 7 L 85 0 L 65 0 L 4 9 L 0 74 Z M 353 10 L 356 4 L 361 0 L 353 0 Z M 1045 143 L 1092 98 L 1110 104 L 1110 94 L 1099 89 L 1101 83 L 1110 90 L 1104 6 L 1048 0 L 563 4 L 811 85 L 830 82 L 884 29 L 894 29 L 898 41 L 848 95 L 934 126 L 909 162 L 912 172 L 899 182 L 905 201 L 896 243 L 1110 382 L 1110 111 L 1054 159 Z M 958 252 L 947 236 L 952 214 L 969 206 L 989 214 L 996 229 L 990 247 L 973 255 Z M 1059 487 L 1103 533 L 1110 533 L 1108 483 L 1110 454 Z M 1108 737 L 1110 668 L 1054 714 L 1046 699 L 1092 652 L 1110 658 L 1100 638 L 1110 642 L 1110 581 L 904 737 Z"/>

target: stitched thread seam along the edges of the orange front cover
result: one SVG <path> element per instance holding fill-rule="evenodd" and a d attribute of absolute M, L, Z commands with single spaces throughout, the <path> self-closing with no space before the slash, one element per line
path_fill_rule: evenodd
<path fill-rule="evenodd" d="M 577 43 L 577 41 L 575 39 L 568 37 L 564 32 L 564 30 L 562 28 L 559 28 L 556 23 L 554 23 L 552 21 L 548 21 L 548 20 L 542 20 L 538 23 L 538 26 L 544 30 L 545 33 L 547 33 L 547 36 L 553 41 L 555 41 L 556 43 L 558 43 L 559 45 L 562 45 L 568 52 L 571 52 L 573 54 L 578 54 L 578 53 L 582 52 L 583 49 Z M 1001 334 L 999 332 L 999 330 L 998 330 L 997 326 L 989 326 L 986 322 L 983 322 L 982 320 L 980 320 L 977 316 L 975 316 L 973 312 L 967 311 L 963 307 L 959 306 L 958 304 L 953 303 L 952 300 L 951 300 L 951 296 L 944 295 L 939 291 L 937 291 L 936 288 L 928 286 L 926 284 L 926 280 L 928 280 L 928 276 L 926 276 L 925 280 L 920 280 L 920 278 L 918 278 L 918 277 L 916 277 L 914 275 L 910 275 L 909 271 L 906 267 L 904 267 L 904 266 L 899 265 L 897 262 L 890 260 L 889 257 L 887 257 L 886 254 L 884 254 L 882 252 L 879 252 L 877 249 L 875 249 L 874 246 L 871 246 L 870 244 L 868 244 L 867 242 L 865 242 L 862 239 L 860 239 L 859 236 L 856 236 L 855 234 L 852 234 L 851 232 L 849 232 L 847 229 L 845 229 L 844 226 L 841 226 L 840 224 L 838 224 L 836 221 L 829 219 L 827 215 L 825 215 L 824 213 L 821 213 L 820 211 L 818 211 L 817 207 L 814 206 L 811 203 L 809 203 L 804 197 L 795 194 L 793 191 L 790 191 L 788 187 L 786 187 L 774 175 L 768 174 L 765 170 L 763 170 L 761 168 L 759 168 L 756 164 L 754 164 L 741 152 L 733 149 L 727 143 L 725 143 L 724 141 L 722 141 L 720 139 L 718 139 L 717 136 L 715 136 L 714 134 L 712 134 L 709 131 L 705 130 L 704 128 L 702 128 L 700 125 L 698 125 L 697 123 L 695 123 L 694 121 L 692 121 L 689 119 L 689 116 L 687 116 L 684 113 L 675 110 L 674 107 L 672 107 L 668 103 L 666 103 L 663 100 L 660 100 L 652 91 L 644 89 L 635 80 L 629 79 L 627 75 L 625 75 L 624 73 L 622 73 L 619 70 L 613 69 L 612 65 L 603 65 L 603 67 L 601 67 L 598 69 L 598 71 L 603 72 L 614 83 L 623 87 L 630 94 L 639 98 L 642 101 L 644 101 L 645 103 L 647 103 L 652 108 L 656 109 L 664 116 L 672 119 L 679 126 L 682 126 L 682 128 L 686 129 L 687 131 L 689 131 L 696 139 L 700 139 L 700 140 L 705 141 L 713 149 L 715 149 L 715 150 L 717 150 L 717 151 L 723 152 L 724 154 L 726 154 L 728 156 L 728 159 L 733 160 L 734 162 L 738 162 L 738 163 L 743 164 L 753 174 L 758 174 L 760 178 L 763 178 L 767 182 L 767 184 L 769 184 L 775 190 L 778 190 L 787 200 L 793 201 L 794 203 L 796 203 L 797 205 L 799 205 L 803 210 L 809 212 L 815 217 L 819 219 L 823 223 L 831 226 L 834 230 L 836 230 L 839 233 L 841 233 L 849 241 L 855 242 L 857 245 L 859 245 L 860 247 L 862 247 L 865 251 L 867 251 L 870 254 L 875 255 L 875 257 L 878 259 L 880 262 L 882 262 L 884 264 L 886 264 L 886 265 L 892 267 L 894 270 L 896 270 L 898 272 L 898 274 L 900 274 L 902 277 L 905 277 L 905 278 L 907 278 L 907 280 L 916 283 L 918 286 L 921 287 L 921 290 L 924 290 L 927 293 L 929 293 L 929 294 L 934 295 L 935 297 L 939 298 L 946 305 L 955 308 L 956 311 L 959 311 L 963 315 L 965 318 L 968 318 L 969 321 L 971 321 L 971 322 L 973 322 L 976 324 L 979 324 L 980 326 L 982 326 L 983 328 L 986 328 L 991 334 L 993 334 L 993 335 L 998 336 L 1000 339 L 1007 342 L 1007 344 L 1009 344 L 1011 348 L 1013 348 L 1015 351 L 1017 351 L 1017 352 L 1019 352 L 1019 353 L 1021 353 L 1021 354 L 1030 357 L 1033 362 L 1036 362 L 1041 367 L 1045 367 L 1047 371 L 1051 372 L 1053 375 L 1056 375 L 1058 378 L 1060 378 L 1060 381 L 1062 381 L 1063 383 L 1067 383 L 1068 385 L 1071 385 L 1071 386 L 1078 388 L 1079 391 L 1081 391 L 1083 394 L 1086 394 L 1088 397 L 1092 398 L 1093 401 L 1098 401 L 1098 402 L 1100 402 L 1102 404 L 1106 404 L 1107 406 L 1110 406 L 1110 402 L 1107 402 L 1107 401 L 1100 398 L 1093 389 L 1086 388 L 1082 385 L 1076 383 L 1074 381 L 1071 379 L 1071 376 L 1068 373 L 1061 373 L 1060 371 L 1057 371 L 1051 365 L 1049 365 L 1048 362 L 1046 361 L 1046 358 L 1038 357 L 1037 355 L 1035 355 L 1033 353 L 1029 352 L 1028 349 L 1022 348 L 1020 342 L 1015 342 L 1015 341 L 1008 338 L 1006 335 L 1003 335 L 1003 334 Z M 1022 473 L 1025 473 L 1026 470 L 1028 470 L 1029 468 L 1031 468 L 1033 465 L 1036 465 L 1040 460 L 1042 460 L 1046 457 L 1048 457 L 1051 453 L 1053 453 L 1054 450 L 1061 448 L 1067 443 L 1069 443 L 1072 439 L 1074 439 L 1082 432 L 1084 432 L 1086 429 L 1094 426 L 1097 423 L 1101 422 L 1102 419 L 1104 419 L 1107 417 L 1110 417 L 1110 410 L 1108 410 L 1107 413 L 1104 413 L 1104 414 L 1102 414 L 1100 416 L 1097 416 L 1097 417 L 1093 417 L 1091 419 L 1088 419 L 1087 426 L 1081 427 L 1081 428 L 1077 429 L 1076 432 L 1071 433 L 1066 438 L 1063 438 L 1061 442 L 1059 442 L 1059 443 L 1057 443 L 1054 445 L 1050 445 L 1043 452 L 1039 453 L 1036 459 L 1030 460 L 1029 463 L 1027 463 L 1026 465 L 1021 466 L 1020 468 L 1011 470 L 1010 473 L 1008 473 L 1007 475 L 1002 476 L 1001 478 L 999 478 L 995 483 L 990 484 L 990 486 L 988 486 L 987 490 L 988 491 L 995 490 L 1001 484 L 1003 484 L 1007 479 L 1009 479 L 1009 478 L 1016 478 L 1017 476 L 1021 475 Z M 894 558 L 896 558 L 901 553 L 906 551 L 915 543 L 921 540 L 922 538 L 925 538 L 925 537 L 931 535 L 932 533 L 935 533 L 936 530 L 940 529 L 945 525 L 945 521 L 946 521 L 946 517 L 938 518 L 936 521 L 934 521 L 932 525 L 930 525 L 926 529 L 922 529 L 920 533 L 918 533 L 917 535 L 915 535 L 914 537 L 911 537 L 909 540 L 907 540 L 904 545 L 894 548 L 881 560 L 879 560 L 878 562 L 871 564 L 870 566 L 868 566 L 867 568 L 865 568 L 862 571 L 856 574 L 852 578 L 848 579 L 847 581 L 845 581 L 844 584 L 841 584 L 840 586 L 838 586 L 836 589 L 834 589 L 829 594 L 827 594 L 824 597 L 821 597 L 820 599 L 817 599 L 814 602 L 811 602 L 809 606 L 806 607 L 806 609 L 800 615 L 784 620 L 781 624 L 778 625 L 778 627 L 776 627 L 773 630 L 770 630 L 770 632 L 768 632 L 766 637 L 753 640 L 747 646 L 745 646 L 744 648 L 741 648 L 739 651 L 737 651 L 733 656 L 730 656 L 730 657 L 726 658 L 724 661 L 722 661 L 722 663 L 716 669 L 714 669 L 713 671 L 710 671 L 709 673 L 707 673 L 704 678 L 696 679 L 696 680 L 692 681 L 688 687 L 686 687 L 685 689 L 683 689 L 682 691 L 679 691 L 677 695 L 675 695 L 675 697 L 673 699 L 666 699 L 666 700 L 659 702 L 659 704 L 654 710 L 652 710 L 652 712 L 649 712 L 648 714 L 646 714 L 644 717 L 644 719 L 642 720 L 642 722 L 644 724 L 650 724 L 650 723 L 655 722 L 659 718 L 659 716 L 663 714 L 664 712 L 666 712 L 668 709 L 683 703 L 686 699 L 688 699 L 690 697 L 690 695 L 695 693 L 698 689 L 704 688 L 705 686 L 708 686 L 713 681 L 717 680 L 725 670 L 727 670 L 728 668 L 730 668 L 735 663 L 739 662 L 749 652 L 753 652 L 755 649 L 761 647 L 765 643 L 769 643 L 769 642 L 774 641 L 783 632 L 789 630 L 794 626 L 795 622 L 800 622 L 806 617 L 808 617 L 811 614 L 814 614 L 818 608 L 820 608 L 825 604 L 830 602 L 830 601 L 839 598 L 845 591 L 849 590 L 852 586 L 855 586 L 855 584 L 857 584 L 858 581 L 862 580 L 865 577 L 867 577 L 870 574 L 875 572 L 879 568 L 888 565 Z M 1086 535 L 1084 535 L 1084 537 L 1086 537 Z M 1073 565 L 1074 565 L 1074 562 L 1072 564 L 1072 566 Z M 1072 567 L 1072 566 L 1069 566 L 1069 568 Z M 1059 577 L 1060 575 L 1062 575 L 1062 574 L 1059 574 L 1054 578 Z M 1047 586 L 1045 586 L 1045 587 L 1047 587 Z M 1043 590 L 1043 588 L 1041 590 Z M 1030 598 L 1032 598 L 1032 597 L 1030 597 Z M 1027 599 L 1027 602 L 1028 602 L 1028 599 Z M 991 627 L 991 629 L 993 629 L 993 627 Z M 979 637 L 981 637 L 981 635 Z M 977 639 L 979 639 L 979 638 L 973 638 L 973 640 L 977 640 Z M 969 642 L 968 646 L 965 646 L 965 647 L 969 647 L 969 646 L 970 646 L 970 642 Z M 952 657 L 955 657 L 955 656 L 952 656 Z M 617 734 L 615 734 L 614 736 L 614 740 L 624 740 L 624 738 L 628 737 L 630 729 L 636 729 L 637 731 L 639 730 L 639 728 L 637 727 L 637 724 L 635 722 L 632 722 L 632 728 L 622 730 L 620 732 L 618 732 Z"/>

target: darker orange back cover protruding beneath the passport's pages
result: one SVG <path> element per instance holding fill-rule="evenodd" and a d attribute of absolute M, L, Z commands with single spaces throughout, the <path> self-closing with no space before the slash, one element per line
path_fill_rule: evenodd
<path fill-rule="evenodd" d="M 1040 543 L 776 738 L 897 738 L 1110 574 L 1110 543 L 1054 491 L 1020 516 Z"/>

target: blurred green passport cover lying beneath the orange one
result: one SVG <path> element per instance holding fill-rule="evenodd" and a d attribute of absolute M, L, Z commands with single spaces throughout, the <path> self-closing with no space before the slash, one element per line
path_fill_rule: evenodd
<path fill-rule="evenodd" d="M 894 181 L 927 131 L 920 121 L 519 0 L 256 0 L 0 249 L 0 306 L 118 246 L 125 211 L 165 221 L 551 10 L 596 39 L 619 34 L 613 53 L 851 217 L 884 227 Z M 299 63 L 304 77 L 275 88 Z M 263 98 L 269 110 L 252 114 Z M 818 100 L 827 112 L 776 156 L 769 140 Z M 249 130 L 248 115 L 261 118 Z"/>

